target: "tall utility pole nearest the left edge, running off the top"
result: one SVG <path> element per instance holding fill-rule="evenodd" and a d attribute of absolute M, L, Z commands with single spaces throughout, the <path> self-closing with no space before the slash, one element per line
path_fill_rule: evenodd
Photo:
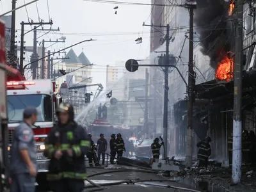
<path fill-rule="evenodd" d="M 16 58 L 16 51 L 15 51 L 15 15 L 16 15 L 16 2 L 17 0 L 12 0 L 12 26 L 11 26 L 11 45 L 10 45 L 10 54 L 9 54 L 9 61 L 10 66 L 13 68 L 17 68 L 17 62 L 15 61 Z"/>

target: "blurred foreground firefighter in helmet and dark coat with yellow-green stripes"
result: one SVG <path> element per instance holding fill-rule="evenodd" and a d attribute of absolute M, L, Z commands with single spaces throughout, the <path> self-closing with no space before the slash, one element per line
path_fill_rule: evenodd
<path fill-rule="evenodd" d="M 84 156 L 90 150 L 86 130 L 74 121 L 74 108 L 61 103 L 56 110 L 58 123 L 45 140 L 44 155 L 50 159 L 47 179 L 54 192 L 79 192 L 84 189 Z"/>

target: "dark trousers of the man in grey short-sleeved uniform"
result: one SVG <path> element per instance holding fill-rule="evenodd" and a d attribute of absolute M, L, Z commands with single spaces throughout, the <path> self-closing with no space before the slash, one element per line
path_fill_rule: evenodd
<path fill-rule="evenodd" d="M 16 174 L 12 176 L 10 192 L 34 192 L 36 178 L 29 173 Z"/>

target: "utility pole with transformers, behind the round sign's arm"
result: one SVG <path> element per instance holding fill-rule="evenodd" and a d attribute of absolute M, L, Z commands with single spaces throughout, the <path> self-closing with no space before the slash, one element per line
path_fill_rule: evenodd
<path fill-rule="evenodd" d="M 166 28 L 166 53 L 165 53 L 165 65 L 170 65 L 169 62 L 169 44 L 170 44 L 170 38 L 169 38 L 169 30 L 170 26 L 167 24 Z M 164 152 L 164 159 L 168 157 L 168 148 L 167 148 L 167 138 L 168 138 L 168 79 L 169 79 L 169 67 L 166 66 L 164 68 L 164 115 L 163 115 L 163 140 L 165 143 L 165 152 Z"/>

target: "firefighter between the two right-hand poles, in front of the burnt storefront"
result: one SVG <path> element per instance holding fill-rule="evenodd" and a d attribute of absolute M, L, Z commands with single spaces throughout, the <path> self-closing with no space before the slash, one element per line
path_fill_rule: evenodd
<path fill-rule="evenodd" d="M 199 160 L 198 167 L 199 168 L 207 168 L 208 166 L 208 158 L 211 156 L 211 138 L 207 136 L 203 141 L 199 141 L 196 144 L 196 147 L 199 148 L 197 153 L 197 158 Z"/>

